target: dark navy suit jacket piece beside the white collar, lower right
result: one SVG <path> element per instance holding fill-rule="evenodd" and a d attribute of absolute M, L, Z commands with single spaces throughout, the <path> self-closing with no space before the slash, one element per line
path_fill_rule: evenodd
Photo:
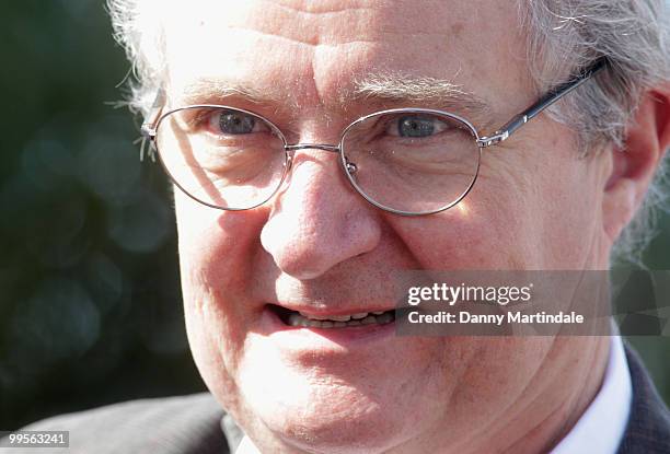
<path fill-rule="evenodd" d="M 670 412 L 658 395 L 638 354 L 626 345 L 633 383 L 628 424 L 617 454 L 670 453 Z"/>

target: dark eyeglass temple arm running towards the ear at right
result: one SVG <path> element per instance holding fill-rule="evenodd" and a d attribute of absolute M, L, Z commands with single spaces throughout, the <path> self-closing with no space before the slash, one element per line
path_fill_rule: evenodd
<path fill-rule="evenodd" d="M 512 132 L 525 125 L 531 119 L 535 118 L 542 110 L 544 110 L 545 108 L 554 104 L 556 101 L 561 100 L 563 96 L 565 96 L 566 94 L 591 79 L 596 73 L 605 68 L 607 65 L 608 63 L 604 58 L 597 60 L 593 65 L 588 67 L 578 75 L 575 75 L 567 82 L 562 83 L 561 85 L 550 90 L 544 96 L 538 100 L 536 103 L 531 105 L 529 108 L 527 108 L 519 115 L 516 115 L 511 120 L 505 124 L 505 126 L 498 129 L 493 136 L 480 138 L 477 140 L 477 144 L 481 148 L 486 148 L 506 140 L 509 136 L 512 135 Z"/>

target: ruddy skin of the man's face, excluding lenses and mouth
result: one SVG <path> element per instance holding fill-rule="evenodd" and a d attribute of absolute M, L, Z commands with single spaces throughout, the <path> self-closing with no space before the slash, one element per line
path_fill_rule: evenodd
<path fill-rule="evenodd" d="M 507 3 L 204 0 L 172 8 L 170 106 L 246 108 L 293 143 L 336 143 L 350 121 L 381 108 L 441 108 L 439 100 L 417 105 L 385 95 L 343 105 L 371 73 L 447 80 L 476 94 L 487 109 L 450 109 L 482 135 L 538 96 L 518 12 Z M 222 96 L 220 86 L 238 94 Z M 207 385 L 268 452 L 430 451 L 427 440 L 439 445 L 446 436 L 473 447 L 501 421 L 523 423 L 558 407 L 533 399 L 574 379 L 565 364 L 580 361 L 573 353 L 580 340 L 396 337 L 392 325 L 297 328 L 269 305 L 325 317 L 390 310 L 386 283 L 404 269 L 604 268 L 603 175 L 598 160 L 577 158 L 574 133 L 541 116 L 485 150 L 474 189 L 434 216 L 378 210 L 351 188 L 337 156 L 320 150 L 298 151 L 290 184 L 252 210 L 207 208 L 177 190 L 186 323 Z"/>

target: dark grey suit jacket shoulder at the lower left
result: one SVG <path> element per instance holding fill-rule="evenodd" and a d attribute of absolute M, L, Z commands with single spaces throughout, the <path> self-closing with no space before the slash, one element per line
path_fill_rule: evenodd
<path fill-rule="evenodd" d="M 32 423 L 23 430 L 67 430 L 69 449 L 44 454 L 226 454 L 223 409 L 209 393 L 131 400 Z M 23 454 L 25 449 L 2 453 Z"/>

